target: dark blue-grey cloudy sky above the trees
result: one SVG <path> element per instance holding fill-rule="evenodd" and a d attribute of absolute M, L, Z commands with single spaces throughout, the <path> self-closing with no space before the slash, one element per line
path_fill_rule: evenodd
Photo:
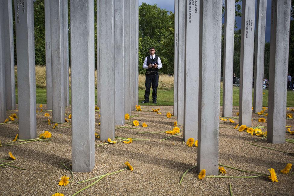
<path fill-rule="evenodd" d="M 174 12 L 174 0 L 139 0 L 139 5 L 144 3 L 156 4 L 161 9 L 166 9 L 168 11 Z M 256 16 L 255 16 L 256 17 Z M 236 18 L 238 30 L 241 26 L 241 17 Z M 224 20 L 223 20 L 224 22 Z M 271 31 L 271 0 L 267 0 L 267 16 L 266 16 L 266 30 L 265 30 L 265 41 L 270 41 L 270 31 Z"/>

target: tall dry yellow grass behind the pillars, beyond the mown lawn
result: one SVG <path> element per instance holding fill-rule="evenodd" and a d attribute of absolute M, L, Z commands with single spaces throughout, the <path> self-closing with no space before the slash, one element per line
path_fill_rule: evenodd
<path fill-rule="evenodd" d="M 14 68 L 15 84 L 17 86 L 17 67 Z M 70 68 L 69 68 L 69 86 L 70 86 Z M 97 87 L 97 71 L 95 70 L 95 88 Z M 173 90 L 174 77 L 167 74 L 159 75 L 158 90 Z M 46 88 L 46 67 L 36 66 L 36 88 Z M 145 89 L 145 74 L 139 74 L 139 89 Z"/>

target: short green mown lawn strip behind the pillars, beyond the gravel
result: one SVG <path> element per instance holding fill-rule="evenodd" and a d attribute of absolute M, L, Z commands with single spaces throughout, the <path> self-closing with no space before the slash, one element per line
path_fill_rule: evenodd
<path fill-rule="evenodd" d="M 17 88 L 16 88 L 16 103 L 18 103 Z M 268 90 L 263 90 L 265 93 L 263 95 L 263 106 L 267 106 L 268 100 Z M 149 103 L 140 103 L 144 100 L 145 90 L 139 89 L 139 104 L 140 105 L 164 105 L 172 106 L 174 104 L 174 91 L 173 90 L 157 90 L 157 104 L 152 103 L 152 90 L 150 92 Z M 220 106 L 223 102 L 223 89 L 220 89 Z M 252 100 L 253 100 L 253 91 L 252 91 Z M 70 97 L 71 102 L 71 97 Z M 46 103 L 46 89 L 37 88 L 36 89 L 36 103 L 45 104 Z M 97 104 L 97 90 L 95 90 L 95 104 Z M 253 103 L 252 103 L 253 105 Z M 233 106 L 239 106 L 239 87 L 233 87 Z M 287 91 L 287 107 L 294 107 L 294 91 Z"/>

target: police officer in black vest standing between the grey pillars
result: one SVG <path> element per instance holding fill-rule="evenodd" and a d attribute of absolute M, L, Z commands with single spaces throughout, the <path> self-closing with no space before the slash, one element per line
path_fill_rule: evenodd
<path fill-rule="evenodd" d="M 152 85 L 152 100 L 153 103 L 157 103 L 157 87 L 158 87 L 158 78 L 159 73 L 158 69 L 162 68 L 161 60 L 159 56 L 155 55 L 155 48 L 149 48 L 149 54 L 146 56 L 145 61 L 143 63 L 143 68 L 146 69 L 146 81 L 145 81 L 145 95 L 144 101 L 141 103 L 149 102 L 149 95 L 150 95 L 150 87 Z"/>

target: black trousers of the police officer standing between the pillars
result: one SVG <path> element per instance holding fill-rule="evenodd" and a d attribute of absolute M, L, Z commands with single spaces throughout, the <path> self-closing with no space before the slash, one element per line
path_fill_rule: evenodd
<path fill-rule="evenodd" d="M 152 100 L 156 101 L 157 99 L 157 87 L 158 87 L 158 74 L 145 74 L 146 75 L 146 81 L 145 81 L 145 95 L 144 99 L 149 101 L 150 96 L 150 88 L 152 85 Z"/>

